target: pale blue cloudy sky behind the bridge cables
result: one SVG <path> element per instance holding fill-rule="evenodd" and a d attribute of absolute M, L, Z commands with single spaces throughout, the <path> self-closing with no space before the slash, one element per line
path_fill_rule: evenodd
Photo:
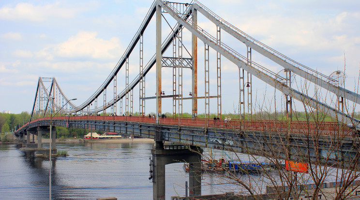
<path fill-rule="evenodd" d="M 200 2 L 256 40 L 305 66 L 326 75 L 345 69 L 345 87 L 357 90 L 360 1 Z M 31 112 L 39 76 L 55 77 L 69 99 L 77 98 L 76 105 L 83 103 L 116 66 L 151 4 L 151 0 L 0 0 L 0 112 Z M 175 23 L 168 14 L 163 15 L 165 38 L 170 31 L 167 23 L 171 26 Z M 199 16 L 198 24 L 216 37 L 216 26 L 205 17 Z M 184 30 L 183 38 L 185 48 L 191 50 L 190 32 Z M 223 32 L 222 41 L 246 56 L 244 45 Z M 155 22 L 152 20 L 144 34 L 144 63 L 155 53 L 154 45 Z M 138 47 L 135 49 L 134 56 L 130 57 L 130 82 L 138 73 Z M 198 96 L 204 96 L 204 45 L 201 41 L 198 49 Z M 171 52 L 166 54 L 171 55 Z M 283 69 L 256 52 L 253 52 L 253 60 L 275 73 Z M 118 92 L 125 86 L 125 72 L 121 73 Z M 171 94 L 171 69 L 164 69 L 162 73 L 164 91 Z M 237 109 L 238 73 L 237 66 L 222 58 L 223 113 Z M 186 97 L 191 91 L 190 74 L 191 71 L 184 69 L 183 94 Z M 146 79 L 147 97 L 154 96 L 154 76 L 155 71 L 151 70 Z M 283 109 L 284 97 L 279 91 L 274 95 L 274 88 L 255 77 L 252 87 L 255 111 L 271 110 L 272 106 Z M 108 93 L 111 92 L 112 89 Z M 216 54 L 210 50 L 212 95 L 216 95 Z M 134 112 L 138 111 L 137 98 L 138 89 L 135 89 Z M 277 105 L 273 105 L 276 102 Z M 172 100 L 163 103 L 163 111 L 171 113 Z M 210 112 L 216 113 L 216 99 L 211 99 L 210 104 Z M 154 100 L 148 100 L 146 105 L 147 113 L 155 111 Z M 198 112 L 203 113 L 204 107 L 204 101 L 199 100 Z M 191 113 L 191 102 L 184 102 L 183 112 Z"/>

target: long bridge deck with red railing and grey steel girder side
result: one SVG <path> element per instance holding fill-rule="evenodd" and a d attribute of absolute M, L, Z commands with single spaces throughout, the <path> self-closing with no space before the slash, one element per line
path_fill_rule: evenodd
<path fill-rule="evenodd" d="M 31 121 L 16 131 L 20 138 L 50 126 L 118 132 L 199 147 L 281 159 L 327 158 L 330 164 L 357 154 L 358 131 L 341 123 L 279 120 L 212 120 L 143 116 L 55 116 Z M 30 135 L 30 134 L 28 134 Z M 341 140 L 339 146 L 331 144 Z M 30 138 L 28 138 L 28 143 Z M 283 144 L 283 145 L 281 145 Z M 337 151 L 335 151 L 337 149 Z M 285 152 L 292 152 L 286 155 Z M 329 155 L 332 159 L 328 159 Z M 335 156 L 336 155 L 336 156 Z M 290 157 L 288 157 L 290 156 Z M 336 158 L 336 159 L 335 159 Z"/>

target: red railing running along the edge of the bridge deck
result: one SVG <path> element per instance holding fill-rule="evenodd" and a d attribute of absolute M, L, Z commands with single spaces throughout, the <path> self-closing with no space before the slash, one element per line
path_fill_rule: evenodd
<path fill-rule="evenodd" d="M 36 123 L 39 120 L 50 120 L 50 117 L 35 119 L 30 123 Z M 56 116 L 53 120 L 105 120 L 105 121 L 131 121 L 138 123 L 156 123 L 156 118 L 148 116 Z M 58 122 L 53 122 L 57 126 Z M 274 131 L 274 132 L 291 132 L 303 134 L 323 134 L 323 135 L 345 135 L 355 136 L 355 129 L 347 127 L 345 124 L 337 122 L 315 122 L 315 121 L 283 121 L 283 120 L 213 120 L 205 118 L 159 118 L 159 124 L 162 125 L 179 125 L 193 127 L 207 127 L 220 129 L 242 129 L 253 131 Z M 24 125 L 20 129 L 26 129 Z M 88 127 L 90 128 L 90 127 Z M 19 129 L 19 130 L 20 130 Z"/>

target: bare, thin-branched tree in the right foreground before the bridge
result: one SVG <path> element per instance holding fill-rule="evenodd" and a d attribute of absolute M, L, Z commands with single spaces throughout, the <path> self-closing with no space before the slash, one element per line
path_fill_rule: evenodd
<path fill-rule="evenodd" d="M 303 89 L 307 91 L 308 87 Z M 318 93 L 320 91 L 315 91 L 315 99 L 320 99 L 316 96 Z M 360 186 L 357 129 L 335 118 L 328 121 L 328 113 L 316 106 L 310 107 L 306 100 L 301 104 L 304 111 L 294 111 L 292 120 L 284 117 L 285 120 L 276 120 L 276 110 L 275 114 L 266 111 L 269 108 L 264 104 L 258 104 L 261 112 L 255 114 L 255 120 L 242 119 L 238 114 L 241 120 L 233 119 L 229 123 L 233 134 L 218 134 L 219 140 L 227 137 L 234 141 L 226 149 L 231 152 L 231 156 L 226 157 L 228 161 L 223 163 L 203 154 L 203 159 L 208 161 L 204 167 L 210 168 L 203 169 L 203 173 L 216 177 L 216 181 L 205 184 L 232 185 L 235 188 L 232 191 L 239 198 L 247 195 L 254 200 L 287 200 L 302 196 L 312 200 L 319 196 L 345 200 L 354 197 Z M 354 108 L 346 107 L 347 114 L 355 113 Z M 299 121 L 300 114 L 305 115 L 305 120 Z M 307 173 L 286 169 L 285 160 L 302 163 L 307 166 Z M 238 163 L 229 167 L 231 161 Z M 259 167 L 250 170 L 252 164 Z M 224 192 L 229 191 L 224 189 Z M 262 195 L 264 193 L 269 194 Z"/>

